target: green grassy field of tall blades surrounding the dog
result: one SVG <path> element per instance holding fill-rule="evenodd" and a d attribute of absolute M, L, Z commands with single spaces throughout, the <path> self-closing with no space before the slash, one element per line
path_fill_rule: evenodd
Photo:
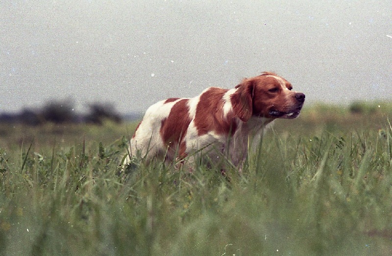
<path fill-rule="evenodd" d="M 391 255 L 392 106 L 312 105 L 222 176 L 118 165 L 135 124 L 0 125 L 1 255 Z"/>

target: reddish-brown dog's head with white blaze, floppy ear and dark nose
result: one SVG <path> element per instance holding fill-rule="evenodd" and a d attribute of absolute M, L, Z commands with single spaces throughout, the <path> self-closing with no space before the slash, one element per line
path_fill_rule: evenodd
<path fill-rule="evenodd" d="M 290 82 L 270 72 L 245 78 L 236 88 L 233 109 L 244 122 L 251 116 L 293 119 L 305 102 L 303 93 L 293 91 Z"/>

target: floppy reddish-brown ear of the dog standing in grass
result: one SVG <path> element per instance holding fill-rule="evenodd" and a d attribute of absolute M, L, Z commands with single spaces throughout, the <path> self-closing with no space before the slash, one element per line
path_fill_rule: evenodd
<path fill-rule="evenodd" d="M 236 88 L 237 91 L 231 95 L 233 112 L 241 121 L 247 122 L 253 111 L 253 82 L 244 79 Z"/>

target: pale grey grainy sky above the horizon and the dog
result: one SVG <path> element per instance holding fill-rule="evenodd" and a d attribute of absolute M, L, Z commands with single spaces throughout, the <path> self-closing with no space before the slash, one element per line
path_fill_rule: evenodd
<path fill-rule="evenodd" d="M 0 112 L 144 112 L 274 71 L 306 103 L 392 101 L 390 0 L 0 0 Z"/>

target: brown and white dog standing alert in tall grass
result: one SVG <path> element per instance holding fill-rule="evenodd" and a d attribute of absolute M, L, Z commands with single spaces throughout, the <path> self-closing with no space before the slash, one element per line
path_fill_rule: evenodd
<path fill-rule="evenodd" d="M 305 95 L 292 88 L 283 77 L 264 72 L 233 89 L 210 87 L 194 98 L 157 102 L 136 128 L 124 164 L 136 152 L 147 161 L 172 161 L 203 151 L 212 159 L 223 154 L 241 170 L 249 134 L 260 136 L 274 119 L 299 115 Z"/>

